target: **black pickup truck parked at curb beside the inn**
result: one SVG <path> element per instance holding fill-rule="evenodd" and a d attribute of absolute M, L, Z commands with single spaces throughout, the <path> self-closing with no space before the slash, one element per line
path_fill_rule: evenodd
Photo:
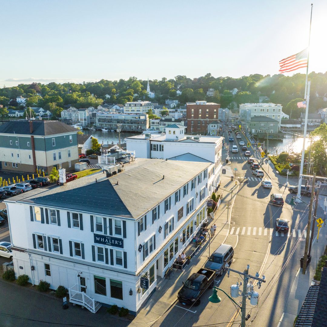
<path fill-rule="evenodd" d="M 215 277 L 216 273 L 214 270 L 200 268 L 183 282 L 183 286 L 177 295 L 178 301 L 183 305 L 193 304 L 194 306 L 198 306 L 200 304 L 200 296 L 207 288 L 211 290 Z"/>

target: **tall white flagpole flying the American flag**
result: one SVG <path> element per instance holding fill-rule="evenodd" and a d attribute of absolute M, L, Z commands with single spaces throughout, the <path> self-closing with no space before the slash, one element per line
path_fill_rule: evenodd
<path fill-rule="evenodd" d="M 302 185 L 302 174 L 303 174 L 303 165 L 304 165 L 305 139 L 306 139 L 306 130 L 307 130 L 307 125 L 308 125 L 308 110 L 309 110 L 309 98 L 310 98 L 310 82 L 308 82 L 308 71 L 309 71 L 309 50 L 310 50 L 310 36 L 311 36 L 311 22 L 312 22 L 312 7 L 313 7 L 313 4 L 311 4 L 307 71 L 306 71 L 306 76 L 305 76 L 304 98 L 306 100 L 306 107 L 305 107 L 304 129 L 303 129 L 303 146 L 302 146 L 301 166 L 300 166 L 300 172 L 299 172 L 298 194 L 297 194 L 297 198 L 295 199 L 295 202 L 301 201 L 301 185 Z M 309 164 L 309 163 L 307 163 L 307 164 Z"/>

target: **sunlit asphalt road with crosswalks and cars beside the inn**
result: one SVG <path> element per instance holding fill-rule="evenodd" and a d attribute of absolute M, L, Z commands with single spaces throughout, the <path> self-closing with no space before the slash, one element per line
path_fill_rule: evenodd
<path fill-rule="evenodd" d="M 231 136 L 234 142 L 228 141 L 225 133 L 225 145 L 239 146 L 243 140 L 236 139 L 235 133 Z M 223 152 L 223 162 L 226 158 L 226 151 Z M 251 153 L 253 150 L 251 149 Z M 231 268 L 244 271 L 250 265 L 249 273 L 255 275 L 259 272 L 260 277 L 264 274 L 266 283 L 258 290 L 256 283 L 253 283 L 254 290 L 259 293 L 259 305 L 253 307 L 250 301 L 247 302 L 247 314 L 250 319 L 247 326 L 277 326 L 284 311 L 284 306 L 289 295 L 289 290 L 294 277 L 300 268 L 300 257 L 304 251 L 305 234 L 303 229 L 307 222 L 308 206 L 305 203 L 297 204 L 295 207 L 289 205 L 291 195 L 287 187 L 277 183 L 278 179 L 272 179 L 272 189 L 264 189 L 261 186 L 261 179 L 252 175 L 250 165 L 243 151 L 232 153 L 230 151 L 231 164 L 226 168 L 226 174 L 234 175 L 234 168 L 237 168 L 236 179 L 240 187 L 232 210 L 231 227 L 229 236 L 225 243 L 234 247 L 234 257 Z M 267 178 L 266 174 L 265 177 Z M 268 178 L 269 179 L 269 178 Z M 290 181 L 294 184 L 296 181 Z M 220 188 L 228 189 L 227 184 Z M 284 207 L 269 203 L 270 195 L 279 193 L 283 195 Z M 309 198 L 303 198 L 310 201 Z M 290 222 L 290 236 L 275 231 L 276 218 L 282 217 Z M 293 232 L 294 229 L 294 232 Z M 315 233 L 316 234 L 316 233 Z M 311 267 L 310 267 L 311 269 Z M 223 276 L 216 278 L 216 286 L 230 294 L 230 286 L 242 281 L 240 275 L 231 272 L 230 277 Z M 242 288 L 242 287 L 241 287 Z M 240 315 L 236 312 L 235 305 L 218 291 L 222 299 L 220 303 L 211 303 L 208 298 L 212 290 L 208 289 L 201 297 L 200 305 L 197 307 L 181 307 L 179 302 L 160 319 L 154 326 L 206 326 L 214 324 L 217 326 L 238 326 Z M 242 298 L 236 298 L 241 305 Z M 301 306 L 302 303 L 299 303 Z M 255 319 L 251 322 L 251 319 Z M 234 322 L 234 323 L 233 323 Z"/>

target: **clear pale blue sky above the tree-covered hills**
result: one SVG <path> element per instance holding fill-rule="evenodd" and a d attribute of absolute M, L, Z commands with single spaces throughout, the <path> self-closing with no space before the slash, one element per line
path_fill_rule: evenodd
<path fill-rule="evenodd" d="M 0 85 L 273 75 L 307 46 L 310 3 L 1 1 Z M 327 71 L 326 14 L 316 1 L 309 71 Z"/>

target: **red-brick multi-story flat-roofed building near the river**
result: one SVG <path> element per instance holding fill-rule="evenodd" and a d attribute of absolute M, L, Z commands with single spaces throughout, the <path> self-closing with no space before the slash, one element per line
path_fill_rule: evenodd
<path fill-rule="evenodd" d="M 220 104 L 196 101 L 186 104 L 187 132 L 207 133 L 208 125 L 218 121 Z"/>

